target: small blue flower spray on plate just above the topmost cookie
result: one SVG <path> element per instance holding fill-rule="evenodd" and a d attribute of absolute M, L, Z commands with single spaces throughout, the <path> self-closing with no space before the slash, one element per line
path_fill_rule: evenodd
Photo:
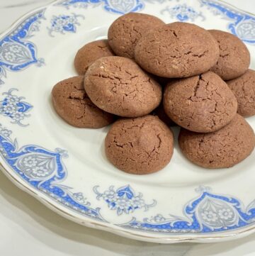
<path fill-rule="evenodd" d="M 202 12 L 195 11 L 187 4 L 178 4 L 174 7 L 166 6 L 161 13 L 168 13 L 171 18 L 176 18 L 179 21 L 195 21 L 198 17 L 202 18 L 202 21 L 205 20 Z"/>

